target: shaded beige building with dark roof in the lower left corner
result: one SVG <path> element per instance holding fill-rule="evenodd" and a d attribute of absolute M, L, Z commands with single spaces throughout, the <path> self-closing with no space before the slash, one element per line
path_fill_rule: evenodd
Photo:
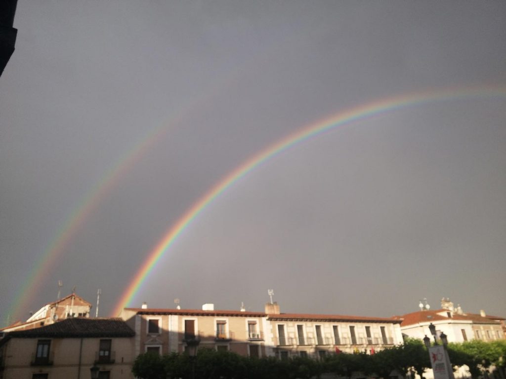
<path fill-rule="evenodd" d="M 0 340 L 3 379 L 133 378 L 134 331 L 119 318 L 67 318 Z"/>

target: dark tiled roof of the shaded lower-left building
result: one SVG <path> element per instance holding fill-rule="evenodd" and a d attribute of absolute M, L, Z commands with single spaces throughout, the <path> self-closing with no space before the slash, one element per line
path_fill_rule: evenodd
<path fill-rule="evenodd" d="M 10 338 L 133 337 L 135 332 L 120 318 L 67 318 L 54 324 L 11 331 Z"/>

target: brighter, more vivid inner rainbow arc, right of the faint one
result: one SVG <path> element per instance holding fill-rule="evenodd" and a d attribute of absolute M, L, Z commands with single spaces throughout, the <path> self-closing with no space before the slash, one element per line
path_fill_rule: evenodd
<path fill-rule="evenodd" d="M 170 229 L 167 230 L 163 238 L 158 242 L 151 253 L 148 254 L 148 258 L 144 261 L 141 268 L 134 276 L 133 280 L 123 292 L 111 316 L 118 315 L 123 308 L 129 305 L 133 297 L 139 291 L 143 281 L 146 279 L 149 272 L 153 269 L 155 264 L 167 251 L 167 249 L 174 243 L 178 235 L 180 235 L 181 232 L 191 223 L 191 221 L 195 219 L 195 217 L 197 217 L 198 214 L 202 212 L 202 210 L 204 210 L 208 204 L 213 202 L 213 200 L 220 196 L 228 187 L 233 185 L 236 181 L 238 181 L 244 175 L 265 161 L 318 134 L 324 133 L 338 126 L 351 123 L 353 121 L 364 119 L 373 115 L 378 115 L 380 113 L 396 110 L 399 108 L 406 108 L 413 105 L 433 103 L 437 101 L 494 96 L 506 96 L 506 87 L 482 86 L 462 89 L 431 90 L 403 94 L 401 96 L 374 101 L 340 112 L 329 118 L 325 118 L 309 126 L 306 126 L 299 131 L 294 132 L 287 137 L 279 140 L 277 143 L 267 147 L 260 153 L 250 157 L 233 171 L 228 173 L 223 179 L 218 181 L 215 186 L 210 188 L 203 197 L 194 203 L 192 207 L 188 209 L 178 219 L 178 221 L 170 227 Z"/>

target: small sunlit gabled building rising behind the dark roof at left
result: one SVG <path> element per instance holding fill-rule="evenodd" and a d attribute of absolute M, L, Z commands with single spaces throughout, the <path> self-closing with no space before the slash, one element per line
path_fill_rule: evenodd
<path fill-rule="evenodd" d="M 5 332 L 32 329 L 50 325 L 58 320 L 64 320 L 69 317 L 90 317 L 91 309 L 91 303 L 72 293 L 60 300 L 44 305 L 25 322 L 17 321 L 0 330 Z"/>

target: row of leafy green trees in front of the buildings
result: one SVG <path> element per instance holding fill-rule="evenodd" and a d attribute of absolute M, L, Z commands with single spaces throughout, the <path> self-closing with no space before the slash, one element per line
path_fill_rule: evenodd
<path fill-rule="evenodd" d="M 505 340 L 449 344 L 448 353 L 454 366 L 468 365 L 474 378 L 482 375 L 490 365 L 501 370 L 500 377 L 505 377 Z M 274 357 L 250 358 L 205 348 L 200 348 L 194 359 L 195 377 L 206 379 L 310 379 L 320 377 L 323 372 L 348 378 L 353 372 L 388 378 L 395 370 L 402 375 L 411 370 L 423 375 L 425 369 L 431 366 L 426 347 L 415 339 L 407 339 L 404 345 L 373 355 L 340 353 L 328 355 L 322 360 L 299 356 L 284 360 Z M 192 361 L 187 354 L 158 356 L 146 353 L 137 357 L 132 372 L 141 379 L 188 379 L 191 370 Z"/>

